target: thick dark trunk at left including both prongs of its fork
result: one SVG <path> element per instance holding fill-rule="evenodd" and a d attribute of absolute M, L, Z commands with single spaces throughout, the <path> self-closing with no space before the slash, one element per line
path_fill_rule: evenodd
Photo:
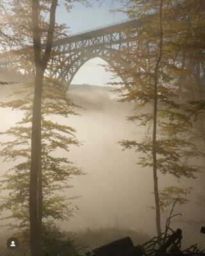
<path fill-rule="evenodd" d="M 41 99 L 45 68 L 51 57 L 55 14 L 58 0 L 51 3 L 50 23 L 44 56 L 41 57 L 40 39 L 40 1 L 32 0 L 33 50 L 35 58 L 35 91 L 33 100 L 33 116 L 31 131 L 31 172 L 29 182 L 29 221 L 31 256 L 42 255 L 42 166 L 41 166 Z"/>

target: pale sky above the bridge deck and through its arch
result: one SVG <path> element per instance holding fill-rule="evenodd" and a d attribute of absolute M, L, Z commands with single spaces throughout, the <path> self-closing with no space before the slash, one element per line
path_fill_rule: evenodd
<path fill-rule="evenodd" d="M 122 13 L 113 14 L 110 12 L 110 10 L 116 10 L 119 7 L 119 3 L 116 0 L 104 0 L 101 6 L 99 6 L 99 2 L 96 0 L 90 0 L 90 3 L 92 4 L 90 8 L 80 3 L 75 3 L 71 12 L 67 12 L 65 7 L 61 5 L 58 7 L 56 13 L 56 21 L 67 24 L 70 28 L 70 33 L 78 33 L 127 19 L 126 15 Z M 112 74 L 106 72 L 98 64 L 106 64 L 106 62 L 99 58 L 86 62 L 79 69 L 76 77 L 72 80 L 72 84 L 94 84 L 102 86 L 110 82 Z"/>

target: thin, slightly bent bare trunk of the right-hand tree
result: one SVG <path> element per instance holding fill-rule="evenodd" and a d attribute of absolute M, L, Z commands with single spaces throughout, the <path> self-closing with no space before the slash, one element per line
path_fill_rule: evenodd
<path fill-rule="evenodd" d="M 156 205 L 156 229 L 158 235 L 161 234 L 161 217 L 160 217 L 160 198 L 158 192 L 158 174 L 157 174 L 157 113 L 158 113 L 158 71 L 160 68 L 162 46 L 163 46 L 163 30 L 162 30 L 162 6 L 163 0 L 160 1 L 160 53 L 156 62 L 156 68 L 154 71 L 154 121 L 153 121 L 153 134 L 152 134 L 152 160 L 153 160 L 153 176 L 154 176 L 154 197 Z"/>

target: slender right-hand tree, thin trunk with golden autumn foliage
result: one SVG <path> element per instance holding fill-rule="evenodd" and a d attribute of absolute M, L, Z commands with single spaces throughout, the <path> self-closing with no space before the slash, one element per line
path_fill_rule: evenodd
<path fill-rule="evenodd" d="M 191 34 L 186 33 L 189 24 L 186 19 L 192 13 L 197 15 L 197 9 L 193 1 L 190 1 L 193 3 L 191 9 L 186 8 L 187 1 L 120 2 L 124 5 L 120 12 L 139 19 L 142 26 L 127 31 L 137 32 L 137 39 L 129 42 L 129 48 L 120 53 L 119 58 L 123 59 L 127 68 L 119 68 L 117 73 L 127 77 L 127 82 L 120 83 L 120 88 L 115 89 L 115 92 L 120 96 L 120 101 L 135 103 L 134 114 L 127 119 L 149 128 L 142 142 L 122 140 L 120 144 L 124 149 L 133 147 L 137 152 L 146 154 L 139 158 L 139 163 L 143 167 L 152 167 L 156 228 L 160 235 L 160 210 L 165 210 L 165 206 L 177 196 L 186 196 L 190 188 L 173 186 L 159 190 L 158 172 L 172 174 L 176 178 L 195 178 L 195 172 L 200 169 L 187 161 L 187 156 L 195 158 L 201 156 L 201 152 L 192 154 L 195 141 L 188 138 L 188 134 L 194 131 L 193 122 L 186 122 L 189 116 L 185 107 L 188 98 L 182 99 L 179 93 L 186 72 L 183 70 L 184 54 L 180 42 L 186 37 L 188 53 L 190 47 L 187 40 Z M 197 1 L 197 4 L 202 5 L 202 1 Z M 203 17 L 204 14 L 199 15 L 199 26 Z M 179 197 L 177 203 L 184 202 L 186 199 Z"/>

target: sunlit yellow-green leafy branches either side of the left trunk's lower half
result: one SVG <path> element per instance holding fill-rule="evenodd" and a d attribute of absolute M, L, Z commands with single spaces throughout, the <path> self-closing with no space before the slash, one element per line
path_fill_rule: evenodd
<path fill-rule="evenodd" d="M 1 190 L 10 190 L 8 196 L 1 197 L 1 211 L 9 210 L 10 215 L 3 219 L 15 219 L 15 224 L 8 223 L 19 232 L 22 243 L 28 240 L 29 232 L 29 167 L 31 165 L 31 121 L 33 82 L 19 86 L 13 92 L 17 99 L 10 102 L 1 102 L 1 107 L 11 107 L 24 111 L 24 118 L 17 125 L 5 133 L 12 136 L 2 142 L 3 150 L 0 156 L 4 161 L 13 162 L 14 166 L 8 170 L 1 179 Z M 51 219 L 66 221 L 76 212 L 71 200 L 78 197 L 65 197 L 62 192 L 72 187 L 67 184 L 74 175 L 83 174 L 81 169 L 75 167 L 67 158 L 54 156 L 57 149 L 69 152 L 70 145 L 79 145 L 75 137 L 75 129 L 69 125 L 53 122 L 52 116 L 59 116 L 61 120 L 75 114 L 74 107 L 67 95 L 67 87 L 57 80 L 45 78 L 42 89 L 41 114 L 41 151 L 42 151 L 42 208 L 38 208 L 41 218 L 43 236 L 42 251 L 45 251 L 45 237 L 52 237 L 49 233 Z M 16 163 L 16 160 L 20 160 Z M 12 203 L 10 203 L 12 202 Z M 53 227 L 52 227 L 53 228 Z M 54 230 L 54 229 L 53 229 Z M 20 235 L 21 234 L 21 235 Z M 22 235 L 23 234 L 23 235 Z"/>

